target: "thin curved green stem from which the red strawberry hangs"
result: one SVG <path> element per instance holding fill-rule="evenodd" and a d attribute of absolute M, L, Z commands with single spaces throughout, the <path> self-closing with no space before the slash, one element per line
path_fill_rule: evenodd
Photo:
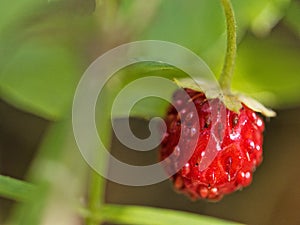
<path fill-rule="evenodd" d="M 230 0 L 221 0 L 225 12 L 227 24 L 227 50 L 225 62 L 219 83 L 225 93 L 230 93 L 231 79 L 234 72 L 235 58 L 236 58 L 236 21 L 234 11 Z"/>

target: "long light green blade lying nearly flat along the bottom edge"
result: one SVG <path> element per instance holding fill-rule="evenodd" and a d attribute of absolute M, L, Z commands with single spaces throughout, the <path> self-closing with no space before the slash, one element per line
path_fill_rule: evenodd
<path fill-rule="evenodd" d="M 114 224 L 131 225 L 238 225 L 240 223 L 225 221 L 209 216 L 193 213 L 152 208 L 144 206 L 105 205 L 97 214 L 81 211 L 84 216 L 90 216 L 95 221 L 104 220 Z"/>

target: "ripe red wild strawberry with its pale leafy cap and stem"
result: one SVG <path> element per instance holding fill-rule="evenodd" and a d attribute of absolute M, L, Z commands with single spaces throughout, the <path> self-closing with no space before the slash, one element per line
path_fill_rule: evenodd
<path fill-rule="evenodd" d="M 248 186 L 262 162 L 264 122 L 257 112 L 275 116 L 256 100 L 231 91 L 237 26 L 231 1 L 221 4 L 227 49 L 218 80 L 220 91 L 205 76 L 199 81 L 175 80 L 183 89 L 175 92 L 168 109 L 160 149 L 161 164 L 175 189 L 192 199 L 216 201 Z"/>

